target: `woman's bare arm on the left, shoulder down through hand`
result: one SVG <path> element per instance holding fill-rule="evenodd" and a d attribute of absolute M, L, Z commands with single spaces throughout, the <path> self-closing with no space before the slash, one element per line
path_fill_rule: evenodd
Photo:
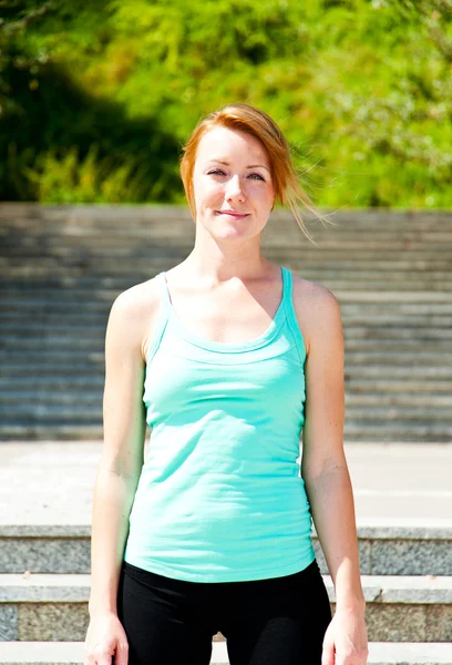
<path fill-rule="evenodd" d="M 155 305 L 152 288 L 145 291 L 142 285 L 132 287 L 113 303 L 106 326 L 104 442 L 92 514 L 91 622 L 85 644 L 89 665 L 110 665 L 112 655 L 119 665 L 126 663 L 126 640 L 117 621 L 116 598 L 129 516 L 143 464 L 143 340 Z"/>

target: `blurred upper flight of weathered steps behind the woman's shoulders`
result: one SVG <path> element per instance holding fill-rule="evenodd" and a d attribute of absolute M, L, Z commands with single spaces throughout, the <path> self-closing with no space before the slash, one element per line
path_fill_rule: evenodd
<path fill-rule="evenodd" d="M 349 441 L 452 440 L 452 214 L 342 211 L 318 242 L 275 211 L 263 249 L 330 288 Z M 188 211 L 0 204 L 0 438 L 101 439 L 103 345 L 125 288 L 183 260 Z"/>

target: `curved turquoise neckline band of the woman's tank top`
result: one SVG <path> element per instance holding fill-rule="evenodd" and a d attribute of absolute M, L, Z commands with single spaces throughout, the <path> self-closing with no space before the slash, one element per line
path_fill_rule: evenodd
<path fill-rule="evenodd" d="M 165 300 L 166 300 L 166 307 L 167 307 L 167 311 L 168 311 L 168 318 L 171 318 L 173 320 L 173 323 L 177 327 L 178 334 L 186 341 L 188 341 L 202 349 L 206 349 L 206 350 L 210 350 L 210 351 L 219 351 L 219 352 L 220 351 L 225 351 L 225 352 L 248 351 L 248 350 L 259 349 L 259 348 L 266 346 L 267 344 L 269 344 L 276 337 L 276 335 L 278 334 L 278 331 L 282 325 L 282 321 L 286 318 L 286 300 L 288 297 L 290 297 L 291 274 L 290 274 L 290 270 L 288 270 L 284 266 L 281 266 L 282 294 L 281 294 L 281 299 L 280 299 L 278 309 L 276 310 L 274 318 L 271 319 L 267 329 L 264 330 L 264 332 L 261 332 L 258 337 L 255 337 L 253 339 L 248 339 L 245 341 L 240 341 L 240 342 L 227 342 L 227 341 L 216 341 L 213 339 L 207 339 L 205 337 L 202 337 L 197 332 L 194 332 L 194 331 L 185 328 L 185 326 L 182 324 L 181 319 L 178 318 L 178 316 L 173 307 L 173 304 L 171 301 L 170 290 L 167 287 L 165 275 L 166 275 L 165 272 L 161 273 L 161 279 L 162 279 L 162 284 L 163 284 L 164 291 L 165 291 Z"/>

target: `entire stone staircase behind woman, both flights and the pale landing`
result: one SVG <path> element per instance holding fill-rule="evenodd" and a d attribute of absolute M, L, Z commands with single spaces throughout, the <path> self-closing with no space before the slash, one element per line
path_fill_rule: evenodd
<path fill-rule="evenodd" d="M 452 665 L 452 491 L 434 480 L 452 462 L 452 215 L 335 221 L 310 227 L 314 247 L 274 214 L 263 246 L 341 304 L 346 449 L 376 475 L 353 478 L 369 665 Z M 187 256 L 194 225 L 174 207 L 0 204 L 0 664 L 80 665 L 107 315 L 121 290 Z M 226 663 L 218 635 L 212 665 Z"/>

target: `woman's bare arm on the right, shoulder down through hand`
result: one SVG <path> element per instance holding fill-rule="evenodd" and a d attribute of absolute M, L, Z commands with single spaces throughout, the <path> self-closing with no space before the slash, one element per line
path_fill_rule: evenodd
<path fill-rule="evenodd" d="M 307 338 L 306 411 L 301 474 L 314 523 L 335 584 L 336 613 L 347 614 L 337 648 L 364 663 L 367 637 L 350 475 L 343 450 L 345 388 L 343 334 L 339 304 L 328 289 L 311 285 L 304 290 L 300 319 Z M 343 614 L 341 614 L 343 612 Z M 351 616 L 351 620 L 350 620 Z M 348 637 L 345 633 L 349 631 Z M 350 642 L 345 645 L 347 640 Z M 358 654 L 358 659 L 357 658 Z M 345 657 L 349 657 L 345 654 Z M 325 663 L 333 659 L 323 657 Z M 322 663 L 323 663 L 322 662 Z"/>

